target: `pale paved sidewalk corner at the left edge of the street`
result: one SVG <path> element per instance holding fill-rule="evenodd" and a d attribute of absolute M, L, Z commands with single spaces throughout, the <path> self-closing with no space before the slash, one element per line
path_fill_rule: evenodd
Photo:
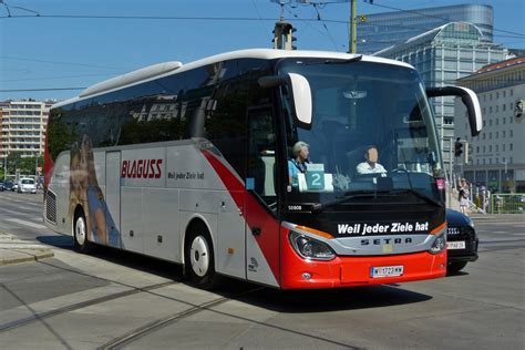
<path fill-rule="evenodd" d="M 53 256 L 53 250 L 47 246 L 21 240 L 14 235 L 0 231 L 0 266 L 38 261 Z"/>

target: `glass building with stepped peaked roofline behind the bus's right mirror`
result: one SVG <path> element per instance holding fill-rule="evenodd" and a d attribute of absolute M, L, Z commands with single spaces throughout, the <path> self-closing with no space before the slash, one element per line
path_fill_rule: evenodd
<path fill-rule="evenodd" d="M 480 28 L 452 22 L 421 33 L 403 43 L 375 53 L 412 64 L 426 86 L 455 85 L 482 66 L 506 60 L 508 50 L 486 42 Z M 434 99 L 432 106 L 439 127 L 444 163 L 450 163 L 454 137 L 454 97 Z"/>

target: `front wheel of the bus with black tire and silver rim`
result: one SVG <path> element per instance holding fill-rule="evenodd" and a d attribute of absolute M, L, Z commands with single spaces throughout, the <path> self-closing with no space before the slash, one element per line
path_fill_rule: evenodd
<path fill-rule="evenodd" d="M 204 224 L 193 225 L 184 246 L 184 267 L 191 284 L 202 289 L 219 285 L 215 272 L 215 254 L 209 231 Z"/>

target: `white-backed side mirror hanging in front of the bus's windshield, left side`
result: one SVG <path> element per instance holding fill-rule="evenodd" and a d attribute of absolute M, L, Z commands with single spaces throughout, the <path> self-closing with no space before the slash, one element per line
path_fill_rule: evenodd
<path fill-rule="evenodd" d="M 288 73 L 284 76 L 271 75 L 259 78 L 258 83 L 261 87 L 276 87 L 288 85 L 291 90 L 291 100 L 294 104 L 294 119 L 302 128 L 310 128 L 312 122 L 312 99 L 311 89 L 308 80 L 297 73 Z"/>

